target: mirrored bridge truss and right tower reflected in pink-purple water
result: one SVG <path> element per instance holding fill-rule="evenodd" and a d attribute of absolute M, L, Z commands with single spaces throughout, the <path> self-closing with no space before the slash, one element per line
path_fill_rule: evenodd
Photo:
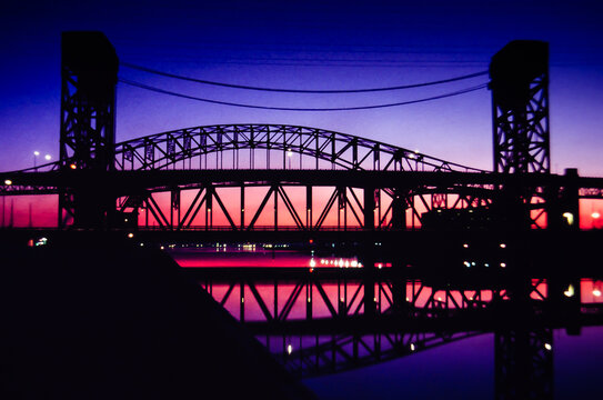
<path fill-rule="evenodd" d="M 474 261 L 464 267 L 473 268 L 479 283 L 469 274 L 463 281 L 434 278 L 390 262 L 375 262 L 368 279 L 369 269 L 359 268 L 349 251 L 297 252 L 287 246 L 167 251 L 301 378 L 494 333 L 496 398 L 552 398 L 553 330 L 579 334 L 602 321 L 603 282 L 596 279 L 526 279 L 520 287 L 509 282 L 504 267 Z"/>

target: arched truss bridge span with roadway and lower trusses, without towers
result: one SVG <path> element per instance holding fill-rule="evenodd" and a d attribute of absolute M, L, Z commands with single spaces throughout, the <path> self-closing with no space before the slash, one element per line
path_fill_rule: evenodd
<path fill-rule="evenodd" d="M 4 196 L 58 194 L 61 187 L 93 182 L 119 199 L 115 214 L 132 222 L 142 211 L 141 227 L 169 230 L 254 230 L 267 220 L 275 230 L 418 228 L 433 210 L 488 207 L 510 182 L 535 188 L 531 222 L 544 228 L 554 200 L 547 188 L 559 196 L 577 186 L 580 199 L 603 198 L 599 178 L 486 172 L 360 137 L 267 124 L 197 127 L 121 142 L 112 171 L 80 170 L 68 159 L 2 178 Z M 261 193 L 254 209 L 250 191 Z M 157 197 L 165 192 L 162 204 Z M 66 217 L 73 216 L 63 216 L 63 226 Z"/>

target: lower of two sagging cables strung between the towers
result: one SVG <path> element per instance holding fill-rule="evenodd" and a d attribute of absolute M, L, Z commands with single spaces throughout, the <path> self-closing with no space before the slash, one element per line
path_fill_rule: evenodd
<path fill-rule="evenodd" d="M 469 93 L 469 92 L 472 92 L 472 91 L 485 89 L 488 87 L 488 83 L 482 83 L 482 84 L 479 84 L 479 86 L 475 86 L 475 87 L 465 88 L 465 89 L 456 90 L 456 91 L 444 93 L 444 94 L 433 96 L 433 97 L 423 98 L 423 99 L 401 101 L 401 102 L 395 102 L 395 103 L 386 103 L 386 104 L 359 106 L 359 107 L 335 107 L 335 108 L 290 108 L 290 107 L 270 107 L 270 106 L 243 104 L 243 103 L 234 103 L 234 102 L 229 102 L 229 101 L 203 99 L 203 98 L 198 98 L 198 97 L 194 97 L 194 96 L 177 93 L 177 92 L 173 92 L 173 91 L 170 91 L 170 90 L 164 90 L 164 89 L 151 87 L 151 86 L 148 86 L 148 84 L 139 83 L 139 82 L 127 80 L 127 79 L 121 79 L 120 78 L 119 81 L 122 82 L 122 83 L 135 87 L 135 88 L 150 90 L 150 91 L 153 91 L 153 92 L 157 92 L 157 93 L 170 94 L 170 96 L 179 97 L 179 98 L 182 98 L 182 99 L 202 101 L 202 102 L 208 102 L 208 103 L 212 103 L 212 104 L 241 107 L 241 108 L 260 109 L 260 110 L 311 111 L 311 112 L 372 110 L 372 109 L 380 109 L 380 108 L 415 104 L 415 103 L 420 103 L 420 102 L 425 102 L 425 101 L 444 99 L 444 98 L 449 98 L 449 97 L 453 97 L 453 96 L 464 94 L 464 93 Z"/>

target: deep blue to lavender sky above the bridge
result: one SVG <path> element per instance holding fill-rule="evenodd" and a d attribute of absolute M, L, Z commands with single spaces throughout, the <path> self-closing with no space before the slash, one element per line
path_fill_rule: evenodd
<path fill-rule="evenodd" d="M 354 89 L 483 71 L 513 39 L 551 44 L 552 169 L 603 176 L 603 6 L 597 1 L 81 1 L 0 6 L 0 169 L 58 156 L 60 32 L 101 30 L 124 62 L 263 87 Z M 127 68 L 122 78 L 215 100 L 284 107 L 388 103 L 483 83 L 399 92 L 275 94 Z M 118 86 L 118 141 L 213 123 L 303 124 L 490 169 L 490 92 L 382 110 L 295 113 L 207 104 Z"/>

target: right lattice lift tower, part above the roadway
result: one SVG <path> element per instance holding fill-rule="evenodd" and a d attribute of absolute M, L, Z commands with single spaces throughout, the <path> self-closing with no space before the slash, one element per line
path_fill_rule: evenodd
<path fill-rule="evenodd" d="M 549 44 L 516 40 L 490 64 L 494 171 L 549 173 Z"/>

